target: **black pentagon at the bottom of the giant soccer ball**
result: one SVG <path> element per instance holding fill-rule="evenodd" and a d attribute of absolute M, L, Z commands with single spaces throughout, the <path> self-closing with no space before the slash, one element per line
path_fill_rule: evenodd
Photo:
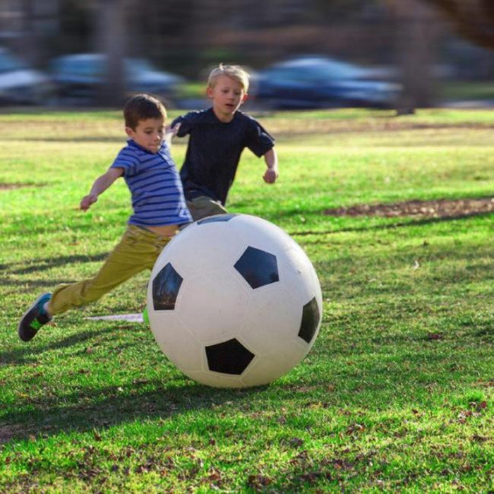
<path fill-rule="evenodd" d="M 206 347 L 207 366 L 214 372 L 241 375 L 254 358 L 238 339 Z"/>

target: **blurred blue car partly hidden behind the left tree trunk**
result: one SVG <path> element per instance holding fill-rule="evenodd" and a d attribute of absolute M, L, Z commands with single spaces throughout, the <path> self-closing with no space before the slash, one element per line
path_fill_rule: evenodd
<path fill-rule="evenodd" d="M 59 99 L 71 103 L 96 102 L 104 84 L 107 56 L 104 54 L 73 54 L 52 59 L 50 70 Z M 145 59 L 123 60 L 128 93 L 147 92 L 171 102 L 183 83 L 175 74 L 159 71 Z"/>

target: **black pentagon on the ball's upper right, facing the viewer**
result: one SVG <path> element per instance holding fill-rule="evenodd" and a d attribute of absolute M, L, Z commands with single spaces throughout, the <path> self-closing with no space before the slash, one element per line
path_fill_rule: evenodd
<path fill-rule="evenodd" d="M 234 265 L 253 289 L 279 281 L 276 255 L 248 247 Z"/>

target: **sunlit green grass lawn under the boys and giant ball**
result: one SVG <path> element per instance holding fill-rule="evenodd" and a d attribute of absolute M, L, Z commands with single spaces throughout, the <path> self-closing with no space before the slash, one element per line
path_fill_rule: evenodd
<path fill-rule="evenodd" d="M 123 181 L 78 203 L 125 139 L 120 112 L 0 114 L 0 492 L 493 492 L 493 213 L 326 212 L 493 198 L 494 112 L 255 116 L 279 181 L 244 153 L 229 210 L 304 248 L 323 323 L 287 375 L 220 390 L 147 325 L 87 319 L 142 311 L 148 273 L 20 342 L 32 301 L 90 277 L 123 233 Z"/>

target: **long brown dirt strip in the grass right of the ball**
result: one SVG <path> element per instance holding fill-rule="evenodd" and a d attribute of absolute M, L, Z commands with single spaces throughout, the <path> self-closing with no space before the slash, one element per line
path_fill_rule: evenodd
<path fill-rule="evenodd" d="M 328 216 L 456 218 L 494 211 L 494 197 L 478 199 L 408 200 L 404 203 L 361 204 L 327 209 Z"/>

